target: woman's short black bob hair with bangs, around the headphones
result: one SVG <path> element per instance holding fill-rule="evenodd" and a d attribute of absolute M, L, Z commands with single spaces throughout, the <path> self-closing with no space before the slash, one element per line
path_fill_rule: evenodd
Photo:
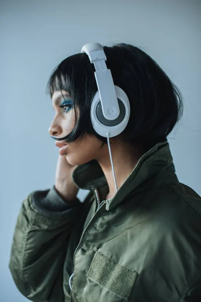
<path fill-rule="evenodd" d="M 121 43 L 104 46 L 104 51 L 114 84 L 125 91 L 130 101 L 130 119 L 119 136 L 121 140 L 130 144 L 141 142 L 149 147 L 165 140 L 182 115 L 183 102 L 178 88 L 140 48 Z M 55 91 L 64 90 L 73 101 L 75 127 L 61 138 L 66 142 L 82 139 L 87 133 L 103 141 L 102 146 L 107 143 L 107 138 L 94 131 L 90 119 L 90 106 L 97 91 L 94 71 L 88 56 L 78 53 L 64 59 L 48 81 L 51 97 Z"/>

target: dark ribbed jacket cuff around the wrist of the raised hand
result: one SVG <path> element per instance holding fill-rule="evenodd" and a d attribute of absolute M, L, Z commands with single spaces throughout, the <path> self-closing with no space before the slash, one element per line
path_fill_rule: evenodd
<path fill-rule="evenodd" d="M 51 189 L 43 191 L 35 191 L 32 195 L 32 204 L 39 211 L 45 212 L 46 214 L 52 212 L 66 213 L 66 210 L 81 205 L 81 202 L 76 197 L 71 202 L 64 201 L 60 194 L 56 191 L 55 186 Z"/>

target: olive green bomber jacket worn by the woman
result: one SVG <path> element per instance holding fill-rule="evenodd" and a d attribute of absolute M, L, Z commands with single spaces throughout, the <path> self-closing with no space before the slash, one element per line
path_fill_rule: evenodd
<path fill-rule="evenodd" d="M 67 204 L 54 186 L 23 201 L 9 264 L 23 295 L 35 302 L 201 301 L 201 198 L 179 183 L 167 141 L 143 155 L 111 199 L 97 161 L 78 166 L 73 180 L 90 190 L 83 203 Z"/>

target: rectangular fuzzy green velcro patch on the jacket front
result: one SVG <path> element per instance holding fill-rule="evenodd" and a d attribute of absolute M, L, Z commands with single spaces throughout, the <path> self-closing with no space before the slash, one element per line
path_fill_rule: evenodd
<path fill-rule="evenodd" d="M 121 298 L 128 299 L 137 278 L 137 272 L 96 252 L 86 276 Z"/>

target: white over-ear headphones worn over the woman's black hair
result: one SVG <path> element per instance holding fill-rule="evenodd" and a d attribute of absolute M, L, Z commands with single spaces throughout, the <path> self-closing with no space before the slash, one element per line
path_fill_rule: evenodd
<path fill-rule="evenodd" d="M 95 81 L 98 91 L 91 104 L 93 129 L 103 137 L 119 135 L 127 126 L 130 117 L 130 103 L 126 93 L 114 85 L 111 70 L 106 65 L 106 54 L 99 43 L 85 44 L 85 52 L 95 67 Z"/>

